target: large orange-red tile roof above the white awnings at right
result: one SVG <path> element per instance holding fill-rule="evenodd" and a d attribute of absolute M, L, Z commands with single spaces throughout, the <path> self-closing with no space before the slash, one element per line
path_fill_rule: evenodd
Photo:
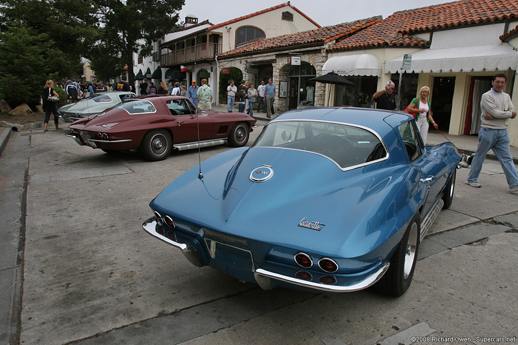
<path fill-rule="evenodd" d="M 391 16 L 329 47 L 328 51 L 377 46 L 427 46 L 416 32 L 518 18 L 516 0 L 461 0 L 394 12 Z"/>

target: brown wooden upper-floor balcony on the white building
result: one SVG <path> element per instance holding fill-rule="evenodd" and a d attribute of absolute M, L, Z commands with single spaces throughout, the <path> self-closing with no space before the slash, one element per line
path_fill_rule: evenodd
<path fill-rule="evenodd" d="M 214 61 L 221 53 L 221 43 L 202 43 L 194 47 L 162 54 L 160 66 L 167 67 L 188 62 Z"/>

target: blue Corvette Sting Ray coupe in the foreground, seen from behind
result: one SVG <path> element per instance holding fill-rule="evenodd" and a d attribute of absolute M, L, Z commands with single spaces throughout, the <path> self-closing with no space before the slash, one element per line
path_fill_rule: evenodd
<path fill-rule="evenodd" d="M 265 290 L 400 296 L 452 203 L 459 160 L 451 143 L 423 145 L 405 113 L 294 110 L 251 147 L 204 161 L 203 176 L 196 166 L 176 178 L 142 227 L 194 265 Z"/>

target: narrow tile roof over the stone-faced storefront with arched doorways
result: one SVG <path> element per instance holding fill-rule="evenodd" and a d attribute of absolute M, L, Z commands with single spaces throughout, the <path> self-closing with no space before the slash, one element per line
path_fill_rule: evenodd
<path fill-rule="evenodd" d="M 349 23 L 324 26 L 318 29 L 312 29 L 294 34 L 264 38 L 223 54 L 219 54 L 218 57 L 234 56 L 283 47 L 295 47 L 311 43 L 323 45 L 340 37 L 353 34 L 380 21 L 381 16 L 371 17 Z"/>

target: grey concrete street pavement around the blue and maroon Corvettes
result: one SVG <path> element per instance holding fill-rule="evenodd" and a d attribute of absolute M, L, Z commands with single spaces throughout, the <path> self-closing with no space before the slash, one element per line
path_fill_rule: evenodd
<path fill-rule="evenodd" d="M 263 291 L 194 267 L 141 228 L 197 151 L 147 162 L 65 132 L 14 132 L 0 157 L 0 310 L 17 305 L 12 287 L 23 283 L 20 315 L 0 316 L 0 344 L 16 339 L 18 319 L 24 344 L 516 343 L 518 194 L 497 161 L 485 161 L 480 189 L 457 170 L 453 204 L 421 244 L 405 295 Z M 228 149 L 203 148 L 202 161 Z"/>

